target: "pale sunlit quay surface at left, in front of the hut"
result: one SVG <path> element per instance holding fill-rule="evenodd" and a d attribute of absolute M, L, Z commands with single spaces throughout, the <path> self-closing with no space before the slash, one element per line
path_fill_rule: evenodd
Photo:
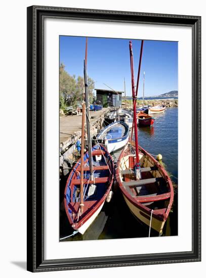
<path fill-rule="evenodd" d="M 91 123 L 96 123 L 108 111 L 108 108 L 103 108 L 100 111 L 90 111 Z M 94 117 L 94 118 L 93 118 Z M 81 115 L 65 116 L 60 118 L 60 148 L 65 149 L 70 145 L 70 141 L 77 139 L 81 134 Z"/>

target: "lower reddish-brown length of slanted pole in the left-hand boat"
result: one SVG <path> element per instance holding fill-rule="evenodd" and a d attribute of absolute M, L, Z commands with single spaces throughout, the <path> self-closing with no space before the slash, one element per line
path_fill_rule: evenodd
<path fill-rule="evenodd" d="M 84 145 L 85 145 L 85 102 L 81 118 L 81 167 L 80 167 L 80 212 L 84 212 Z"/>

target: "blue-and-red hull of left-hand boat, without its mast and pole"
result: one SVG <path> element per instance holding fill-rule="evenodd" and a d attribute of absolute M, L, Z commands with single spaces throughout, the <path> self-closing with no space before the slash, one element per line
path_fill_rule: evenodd
<path fill-rule="evenodd" d="M 107 198 L 111 197 L 114 165 L 111 155 L 102 145 L 92 148 L 94 180 L 90 179 L 89 153 L 84 154 L 84 212 L 80 213 L 80 166 L 79 159 L 66 182 L 64 204 L 70 225 L 80 234 L 95 220 Z M 108 200 L 108 199 L 107 199 Z"/>

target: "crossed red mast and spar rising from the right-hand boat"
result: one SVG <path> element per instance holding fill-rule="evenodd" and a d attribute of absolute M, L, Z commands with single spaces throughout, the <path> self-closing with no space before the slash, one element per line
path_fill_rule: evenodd
<path fill-rule="evenodd" d="M 136 87 L 136 92 L 135 92 L 133 50 L 132 50 L 132 41 L 130 41 L 130 64 L 131 64 L 132 95 L 133 95 L 133 123 L 134 123 L 134 129 L 135 129 L 135 150 L 136 150 L 135 174 L 136 174 L 137 179 L 141 179 L 141 172 L 140 172 L 140 160 L 139 160 L 139 152 L 138 152 L 138 129 L 137 129 L 136 103 L 137 103 L 137 93 L 138 93 L 140 68 L 141 68 L 141 60 L 142 60 L 143 42 L 144 41 L 142 40 L 138 77 L 137 77 L 137 87 Z"/>

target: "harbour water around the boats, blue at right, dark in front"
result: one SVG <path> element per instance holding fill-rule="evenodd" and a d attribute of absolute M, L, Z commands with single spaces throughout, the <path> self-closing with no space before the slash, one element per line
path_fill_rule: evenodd
<path fill-rule="evenodd" d="M 171 175 L 175 188 L 175 198 L 169 221 L 167 225 L 164 225 L 164 235 L 176 236 L 178 234 L 178 108 L 167 108 L 164 113 L 153 115 L 153 117 L 155 121 L 152 127 L 138 128 L 139 145 L 153 155 L 161 154 L 162 163 Z M 113 154 L 115 161 L 119 154 L 120 151 Z M 62 203 L 65 184 L 66 180 L 61 180 L 60 238 L 73 232 L 69 226 Z M 76 234 L 65 239 L 65 241 L 148 237 L 149 227 L 143 226 L 134 218 L 117 187 L 113 187 L 113 192 L 114 195 L 111 202 L 105 202 L 99 216 L 86 233 L 84 235 Z"/>

